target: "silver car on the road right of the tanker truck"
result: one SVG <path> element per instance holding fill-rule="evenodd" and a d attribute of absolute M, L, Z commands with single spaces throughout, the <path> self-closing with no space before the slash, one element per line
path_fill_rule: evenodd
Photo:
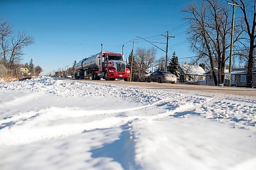
<path fill-rule="evenodd" d="M 147 77 L 146 82 L 176 83 L 177 77 L 169 71 L 155 71 L 153 74 Z"/>

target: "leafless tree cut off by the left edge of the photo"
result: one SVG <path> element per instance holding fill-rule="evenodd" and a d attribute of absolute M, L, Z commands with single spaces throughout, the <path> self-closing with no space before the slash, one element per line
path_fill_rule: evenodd
<path fill-rule="evenodd" d="M 15 64 L 22 60 L 23 48 L 34 43 L 33 37 L 24 32 L 18 32 L 17 35 L 13 36 L 11 25 L 3 18 L 0 18 L 0 38 L 1 63 L 9 69 L 12 69 Z"/>

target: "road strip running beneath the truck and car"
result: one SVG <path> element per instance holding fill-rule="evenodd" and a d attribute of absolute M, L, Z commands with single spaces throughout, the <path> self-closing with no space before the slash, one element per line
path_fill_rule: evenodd
<path fill-rule="evenodd" d="M 76 81 L 93 81 L 98 83 L 121 84 L 127 86 L 137 86 L 152 89 L 174 89 L 177 91 L 201 91 L 203 93 L 222 93 L 230 95 L 245 95 L 256 99 L 255 88 L 245 87 L 218 87 L 218 86 L 202 86 L 188 84 L 170 84 L 170 83 L 145 83 L 145 82 L 124 82 L 124 81 L 105 81 L 105 80 L 76 80 Z"/>

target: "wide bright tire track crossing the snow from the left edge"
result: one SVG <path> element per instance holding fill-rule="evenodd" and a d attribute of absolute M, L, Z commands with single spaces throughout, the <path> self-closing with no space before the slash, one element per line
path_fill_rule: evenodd
<path fill-rule="evenodd" d="M 211 99 L 207 99 L 206 102 L 211 101 Z M 152 105 L 153 106 L 161 103 L 163 101 L 156 102 Z M 94 120 L 88 123 L 73 123 L 73 124 L 62 124 L 62 125 L 55 125 L 55 126 L 47 126 L 47 127 L 33 127 L 30 126 L 18 126 L 13 125 L 11 127 L 5 127 L 0 130 L 0 145 L 21 145 L 21 144 L 28 144 L 33 143 L 41 140 L 48 140 L 54 139 L 59 137 L 67 137 L 74 134 L 79 134 L 84 131 L 91 131 L 97 129 L 109 129 L 113 127 L 118 127 L 124 124 L 127 124 L 131 121 L 138 121 L 140 119 L 147 119 L 147 120 L 156 120 L 159 118 L 164 118 L 169 115 L 173 115 L 176 112 L 190 110 L 196 107 L 200 107 L 205 102 L 201 104 L 193 104 L 193 102 L 187 103 L 172 111 L 167 111 L 166 113 L 160 113 L 158 115 L 153 116 L 127 116 L 127 117 L 107 117 L 101 120 Z M 147 107 L 148 107 L 147 106 Z M 142 106 L 146 107 L 146 106 Z M 137 107 L 142 108 L 142 107 Z M 131 110 L 134 108 L 130 108 L 127 110 Z M 123 111 L 123 110 L 122 110 Z M 110 112 L 112 113 L 112 112 Z"/>

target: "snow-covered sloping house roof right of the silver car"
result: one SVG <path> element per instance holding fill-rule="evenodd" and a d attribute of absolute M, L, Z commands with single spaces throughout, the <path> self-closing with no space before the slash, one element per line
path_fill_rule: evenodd
<path fill-rule="evenodd" d="M 205 74 L 204 69 L 198 65 L 180 64 L 179 67 L 181 68 L 183 74 L 186 75 L 204 76 Z"/>

